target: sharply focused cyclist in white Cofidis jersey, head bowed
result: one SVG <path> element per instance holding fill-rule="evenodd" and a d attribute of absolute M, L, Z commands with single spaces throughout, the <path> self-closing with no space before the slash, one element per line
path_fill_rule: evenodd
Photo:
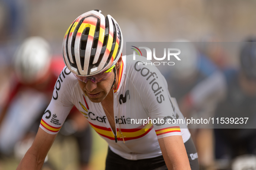
<path fill-rule="evenodd" d="M 100 10 L 71 24 L 63 40 L 66 67 L 18 170 L 41 168 L 74 105 L 109 144 L 106 170 L 198 169 L 188 129 L 170 122 L 184 117 L 164 77 L 155 66 L 143 65 L 146 58 L 122 56 L 122 48 L 119 25 Z"/>

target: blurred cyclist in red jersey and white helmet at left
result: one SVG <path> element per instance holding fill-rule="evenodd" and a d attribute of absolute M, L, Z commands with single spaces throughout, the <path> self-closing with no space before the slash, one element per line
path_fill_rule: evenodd
<path fill-rule="evenodd" d="M 42 115 L 52 99 L 52 91 L 65 64 L 52 58 L 50 46 L 41 37 L 27 38 L 16 51 L 10 77 L 10 93 L 0 109 L 0 154 L 21 159 L 31 146 Z M 73 135 L 79 147 L 81 170 L 88 170 L 91 132 L 81 113 L 73 108 L 60 131 Z"/>

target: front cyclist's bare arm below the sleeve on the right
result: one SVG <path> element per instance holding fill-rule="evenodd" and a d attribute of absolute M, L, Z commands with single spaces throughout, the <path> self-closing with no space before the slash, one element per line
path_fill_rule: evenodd
<path fill-rule="evenodd" d="M 191 170 L 181 136 L 168 136 L 158 141 L 168 170 Z"/>

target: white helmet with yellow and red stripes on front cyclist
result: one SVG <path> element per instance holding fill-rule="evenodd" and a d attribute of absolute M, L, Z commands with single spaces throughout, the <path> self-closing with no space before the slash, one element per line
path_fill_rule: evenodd
<path fill-rule="evenodd" d="M 114 66 L 122 49 L 123 35 L 116 20 L 92 10 L 78 16 L 68 28 L 62 53 L 71 72 L 91 76 Z"/>

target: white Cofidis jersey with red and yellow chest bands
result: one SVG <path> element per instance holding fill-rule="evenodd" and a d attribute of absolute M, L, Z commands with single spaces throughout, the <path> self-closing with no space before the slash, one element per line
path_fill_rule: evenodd
<path fill-rule="evenodd" d="M 113 90 L 117 135 L 113 134 L 101 103 L 88 99 L 67 67 L 55 84 L 52 101 L 42 117 L 40 128 L 50 134 L 58 133 L 75 105 L 91 127 L 108 142 L 110 149 L 129 160 L 162 155 L 158 138 L 182 135 L 183 142 L 188 141 L 190 133 L 186 126 L 171 123 L 173 119 L 184 120 L 184 117 L 176 100 L 169 95 L 165 78 L 154 65 L 142 64 L 146 58 L 137 56 L 136 60 L 132 59 L 132 56 L 123 56 L 118 86 Z M 149 123 L 143 125 L 146 120 Z M 125 143 L 118 133 L 119 128 Z"/>

